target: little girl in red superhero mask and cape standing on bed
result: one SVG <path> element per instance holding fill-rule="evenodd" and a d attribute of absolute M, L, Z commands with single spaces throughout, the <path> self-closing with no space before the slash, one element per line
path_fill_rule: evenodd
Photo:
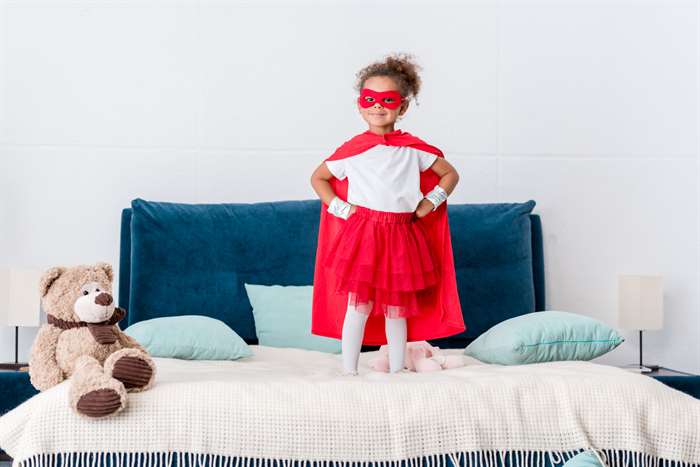
<path fill-rule="evenodd" d="M 342 374 L 357 374 L 362 344 L 388 343 L 394 373 L 407 339 L 465 330 L 445 203 L 459 175 L 438 148 L 394 129 L 420 89 L 418 69 L 398 54 L 360 70 L 369 128 L 311 176 L 323 202 L 311 332 L 342 340 Z"/>

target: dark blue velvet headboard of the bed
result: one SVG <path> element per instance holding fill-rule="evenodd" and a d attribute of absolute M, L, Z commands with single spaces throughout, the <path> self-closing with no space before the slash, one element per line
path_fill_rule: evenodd
<path fill-rule="evenodd" d="M 504 319 L 545 309 L 542 226 L 534 206 L 533 200 L 449 205 L 467 330 L 434 345 L 464 347 Z M 243 283 L 313 284 L 320 208 L 318 199 L 132 201 L 122 212 L 119 263 L 119 304 L 128 323 L 207 315 L 256 344 Z"/>

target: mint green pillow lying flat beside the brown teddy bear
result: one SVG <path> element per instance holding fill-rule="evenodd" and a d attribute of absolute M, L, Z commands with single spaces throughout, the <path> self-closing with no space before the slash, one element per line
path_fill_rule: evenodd
<path fill-rule="evenodd" d="M 134 323 L 124 330 L 154 357 L 182 360 L 236 360 L 253 352 L 223 321 L 184 315 Z"/>

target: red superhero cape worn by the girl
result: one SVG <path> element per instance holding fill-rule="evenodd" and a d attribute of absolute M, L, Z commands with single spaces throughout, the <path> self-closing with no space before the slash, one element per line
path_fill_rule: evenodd
<path fill-rule="evenodd" d="M 395 130 L 385 135 L 377 135 L 367 130 L 343 143 L 335 152 L 324 160 L 344 159 L 362 154 L 377 144 L 389 146 L 410 146 L 421 151 L 444 157 L 442 151 L 423 140 L 402 130 Z M 421 172 L 420 190 L 425 195 L 440 181 L 432 170 Z M 330 179 L 335 194 L 347 201 L 348 179 Z M 318 229 L 318 246 L 316 249 L 316 266 L 314 269 L 313 305 L 311 311 L 311 333 L 318 336 L 340 339 L 343 320 L 348 306 L 347 294 L 335 294 L 335 278 L 327 274 L 323 261 L 331 240 L 338 233 L 345 220 L 330 214 L 328 205 L 321 203 L 321 221 Z M 462 317 L 462 307 L 457 294 L 450 226 L 447 220 L 447 201 L 435 211 L 421 217 L 427 235 L 428 245 L 435 253 L 440 281 L 426 292 L 420 293 L 419 303 L 424 313 L 421 316 L 407 318 L 408 341 L 436 339 L 458 334 L 466 329 Z M 386 344 L 384 316 L 370 315 L 365 325 L 362 341 L 366 345 Z"/>

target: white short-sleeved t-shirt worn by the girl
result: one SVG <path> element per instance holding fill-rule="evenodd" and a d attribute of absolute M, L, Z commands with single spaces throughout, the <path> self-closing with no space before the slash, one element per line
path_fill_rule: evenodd
<path fill-rule="evenodd" d="M 362 154 L 326 161 L 338 180 L 348 178 L 348 203 L 377 211 L 412 212 L 423 199 L 420 172 L 438 156 L 410 146 L 378 144 Z"/>

